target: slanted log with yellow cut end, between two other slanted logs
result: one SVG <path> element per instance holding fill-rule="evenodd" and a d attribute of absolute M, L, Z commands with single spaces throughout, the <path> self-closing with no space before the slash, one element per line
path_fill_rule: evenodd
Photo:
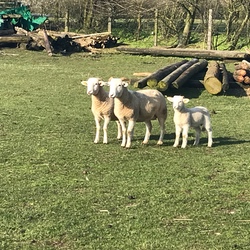
<path fill-rule="evenodd" d="M 178 67 L 176 70 L 174 70 L 172 73 L 167 75 L 165 78 L 163 78 L 159 83 L 157 89 L 159 91 L 166 91 L 169 87 L 169 85 L 175 81 L 186 69 L 191 67 L 193 64 L 197 63 L 199 60 L 197 58 L 193 58 L 192 60 L 184 63 L 180 67 Z"/>

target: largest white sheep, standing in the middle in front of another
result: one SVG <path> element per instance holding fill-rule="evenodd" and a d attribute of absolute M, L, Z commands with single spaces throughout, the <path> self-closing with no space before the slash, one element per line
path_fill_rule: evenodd
<path fill-rule="evenodd" d="M 158 145 L 163 144 L 167 105 L 164 96 L 158 90 L 128 90 L 128 83 L 120 78 L 111 78 L 109 97 L 114 98 L 114 113 L 122 127 L 122 147 L 130 148 L 135 122 L 145 122 L 146 133 L 143 144 L 147 144 L 152 131 L 151 120 L 158 119 L 160 137 Z M 128 121 L 126 128 L 125 122 Z"/>

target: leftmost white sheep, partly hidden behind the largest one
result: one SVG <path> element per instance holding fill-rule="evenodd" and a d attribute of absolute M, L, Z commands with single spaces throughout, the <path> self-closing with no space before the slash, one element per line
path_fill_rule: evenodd
<path fill-rule="evenodd" d="M 100 138 L 100 122 L 104 119 L 103 124 L 103 143 L 108 143 L 107 128 L 110 121 L 117 123 L 117 139 L 121 139 L 121 125 L 114 115 L 114 99 L 109 98 L 108 93 L 104 90 L 105 83 L 99 78 L 89 78 L 87 81 L 82 81 L 81 84 L 87 86 L 87 94 L 91 95 L 91 111 L 95 118 L 96 135 L 94 143 L 99 142 Z"/>

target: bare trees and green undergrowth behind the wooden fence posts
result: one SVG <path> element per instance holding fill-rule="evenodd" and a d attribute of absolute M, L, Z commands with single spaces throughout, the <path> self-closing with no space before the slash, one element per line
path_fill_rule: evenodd
<path fill-rule="evenodd" d="M 159 39 L 172 46 L 204 43 L 213 11 L 213 49 L 249 44 L 249 0 L 27 0 L 31 11 L 49 16 L 48 28 L 83 33 L 108 29 L 121 38 L 152 35 L 158 17 Z M 157 10 L 157 11 L 156 11 Z M 109 26 L 110 27 L 110 26 Z"/>

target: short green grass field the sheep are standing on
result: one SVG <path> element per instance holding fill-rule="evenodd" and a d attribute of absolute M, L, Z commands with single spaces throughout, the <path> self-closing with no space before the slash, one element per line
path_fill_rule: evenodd
<path fill-rule="evenodd" d="M 173 111 L 156 146 L 136 124 L 132 148 L 93 143 L 82 79 L 131 77 L 176 58 L 48 57 L 0 51 L 0 249 L 250 249 L 249 98 L 180 89 L 214 110 L 214 146 L 173 148 Z M 232 67 L 232 65 L 228 65 Z M 168 92 L 167 95 L 174 93 Z"/>

